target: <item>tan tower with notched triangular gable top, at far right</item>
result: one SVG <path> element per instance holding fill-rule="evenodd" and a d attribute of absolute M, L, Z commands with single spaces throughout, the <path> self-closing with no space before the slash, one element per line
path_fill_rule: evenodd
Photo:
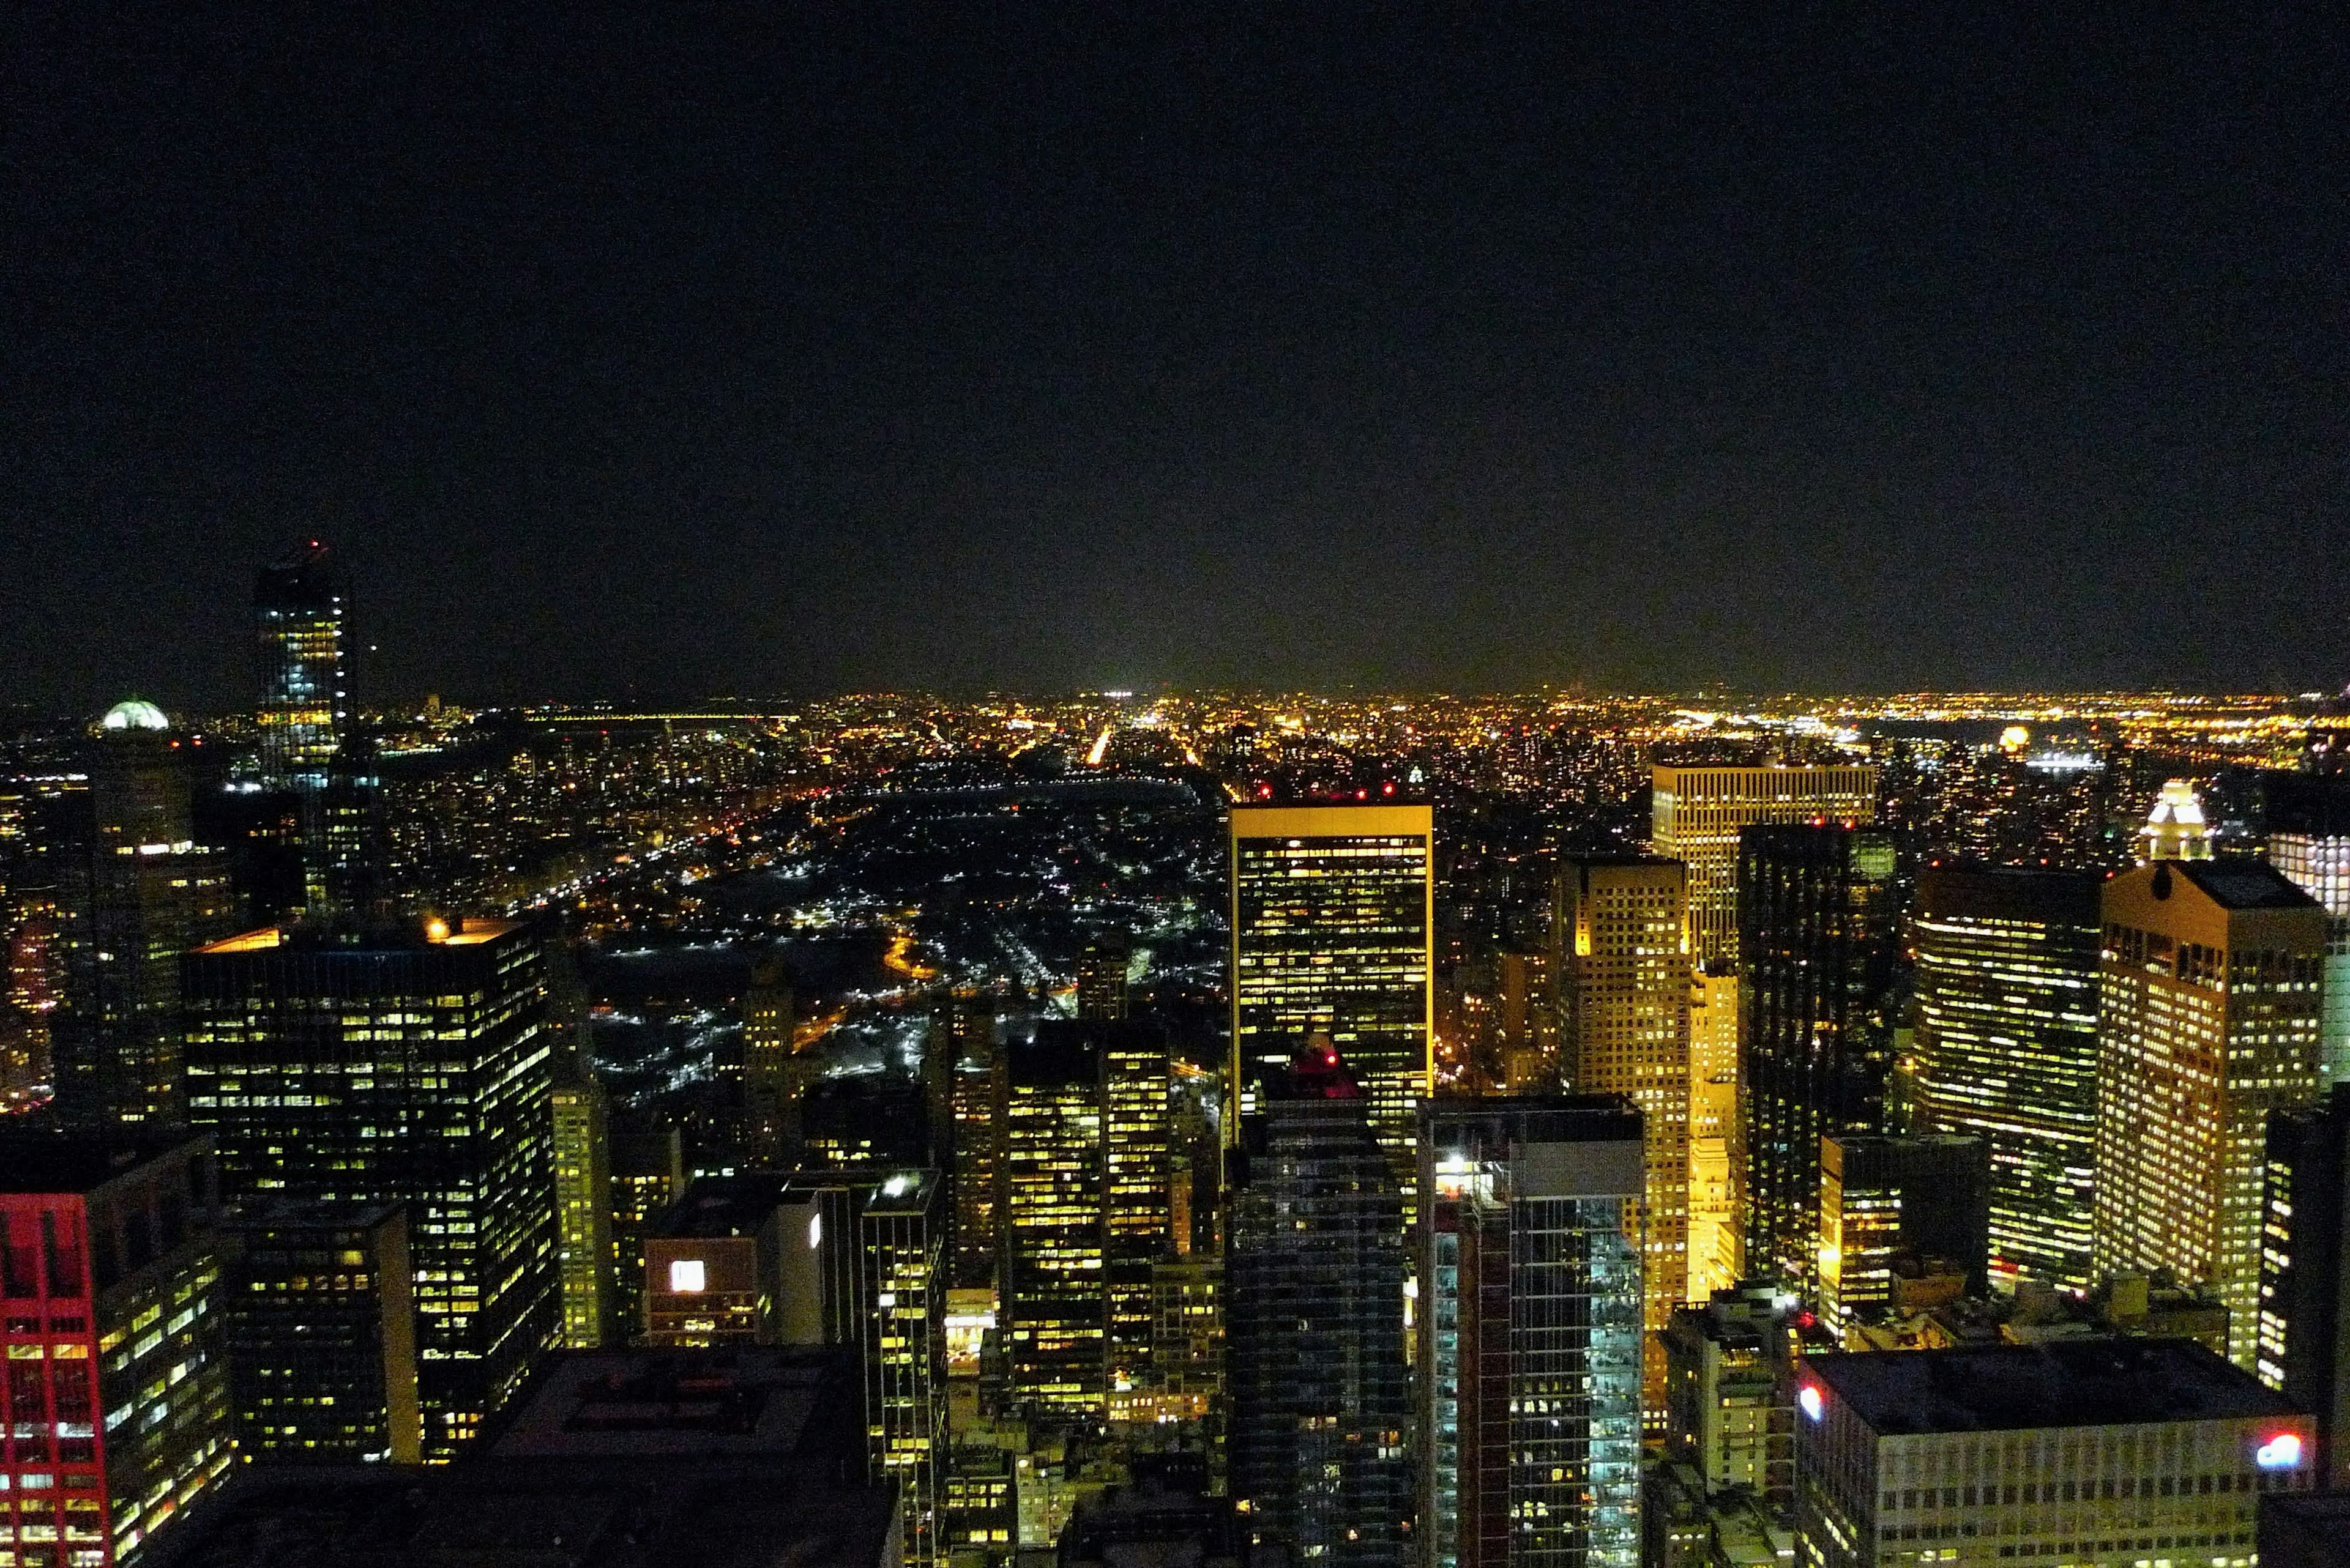
<path fill-rule="evenodd" d="M 2160 860 L 2103 919 L 2094 1265 L 2209 1286 L 2251 1368 L 2263 1138 L 2317 1098 L 2326 912 L 2258 860 Z"/>

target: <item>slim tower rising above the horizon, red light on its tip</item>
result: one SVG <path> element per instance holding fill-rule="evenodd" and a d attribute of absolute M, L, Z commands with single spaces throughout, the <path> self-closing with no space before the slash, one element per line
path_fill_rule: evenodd
<path fill-rule="evenodd" d="M 327 569 L 327 545 L 313 538 L 261 569 L 254 623 L 261 778 L 277 790 L 324 790 L 348 722 L 343 590 Z"/>

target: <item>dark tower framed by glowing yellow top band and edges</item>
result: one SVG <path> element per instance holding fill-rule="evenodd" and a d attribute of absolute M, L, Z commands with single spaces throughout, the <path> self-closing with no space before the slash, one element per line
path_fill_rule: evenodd
<path fill-rule="evenodd" d="M 1307 1037 L 1325 1034 L 1363 1086 L 1405 1215 L 1434 1072 L 1431 835 L 1429 806 L 1231 809 L 1238 1112 L 1257 1107 L 1257 1084 L 1285 1072 Z"/>

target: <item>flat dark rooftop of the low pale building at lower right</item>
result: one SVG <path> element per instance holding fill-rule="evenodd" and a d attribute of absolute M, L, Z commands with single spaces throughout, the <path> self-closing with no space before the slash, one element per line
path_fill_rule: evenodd
<path fill-rule="evenodd" d="M 2291 1415 L 2193 1340 L 2059 1340 L 1805 1361 L 1878 1436 Z"/>

